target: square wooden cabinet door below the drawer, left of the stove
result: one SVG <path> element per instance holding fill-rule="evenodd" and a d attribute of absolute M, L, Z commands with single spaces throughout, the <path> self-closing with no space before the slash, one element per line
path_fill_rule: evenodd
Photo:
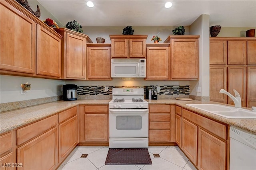
<path fill-rule="evenodd" d="M 108 142 L 108 114 L 85 114 L 85 141 Z"/>

